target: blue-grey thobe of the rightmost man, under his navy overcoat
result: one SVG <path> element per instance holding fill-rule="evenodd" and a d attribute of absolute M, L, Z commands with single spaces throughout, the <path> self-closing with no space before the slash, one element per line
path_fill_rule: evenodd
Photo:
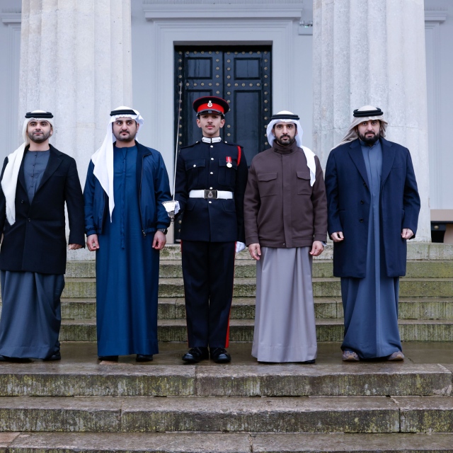
<path fill-rule="evenodd" d="M 381 237 L 380 190 L 382 147 L 379 140 L 362 154 L 367 168 L 371 204 L 365 278 L 341 279 L 345 338 L 341 348 L 364 359 L 386 357 L 401 350 L 398 332 L 398 277 L 387 277 Z"/>

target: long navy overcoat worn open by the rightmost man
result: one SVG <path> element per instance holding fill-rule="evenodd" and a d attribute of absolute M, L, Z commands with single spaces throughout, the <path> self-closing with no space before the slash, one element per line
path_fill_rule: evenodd
<path fill-rule="evenodd" d="M 381 248 L 388 277 L 406 275 L 406 240 L 415 237 L 420 197 L 409 150 L 381 138 Z M 359 139 L 333 149 L 326 166 L 328 234 L 343 231 L 344 241 L 333 244 L 333 274 L 365 277 L 370 193 Z"/>

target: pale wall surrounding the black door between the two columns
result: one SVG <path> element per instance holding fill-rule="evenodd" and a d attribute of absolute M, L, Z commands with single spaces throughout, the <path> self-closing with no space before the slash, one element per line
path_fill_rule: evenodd
<path fill-rule="evenodd" d="M 306 1 L 309 8 L 304 10 L 304 19 L 312 19 L 311 2 Z M 234 6 L 231 6 L 234 8 Z M 278 10 L 276 6 L 276 11 Z M 260 21 L 262 18 L 257 17 Z M 311 147 L 312 139 L 312 36 L 299 35 L 298 19 L 287 21 L 289 29 L 285 32 L 285 44 L 282 41 L 277 43 L 279 38 L 272 39 L 274 26 L 271 22 L 273 18 L 265 18 L 269 23 L 268 41 L 278 48 L 273 47 L 273 111 L 292 110 L 301 117 L 301 124 L 304 129 L 304 145 Z M 178 18 L 173 21 L 176 31 L 172 36 L 178 34 L 178 23 L 180 28 L 188 30 L 186 34 L 180 32 L 180 36 L 190 42 L 207 45 L 231 45 L 234 43 L 247 44 L 258 40 L 262 42 L 262 31 L 253 30 L 246 25 L 246 18 L 192 18 L 194 26 L 190 27 L 190 19 Z M 248 20 L 248 19 L 247 19 Z M 171 28 L 170 21 L 165 21 L 160 25 L 155 21 L 147 21 L 144 16 L 141 0 L 132 0 L 132 86 L 134 108 L 142 113 L 145 125 L 139 140 L 147 146 L 156 147 L 164 155 L 168 173 L 173 172 L 174 141 L 173 137 L 173 42 L 168 46 L 164 39 L 159 40 L 164 33 L 159 35 L 159 27 L 168 26 Z M 221 30 L 218 33 L 212 31 L 212 28 L 219 24 L 231 27 L 231 32 Z M 283 25 L 282 25 L 283 26 Z M 277 36 L 276 33 L 274 33 Z M 180 39 L 180 37 L 178 37 Z M 290 39 L 287 39 L 290 38 Z M 178 39 L 178 44 L 180 40 Z M 156 63 L 159 62 L 159 63 Z M 281 62 L 287 62 L 282 67 Z M 156 64 L 165 67 L 162 71 L 156 71 Z M 162 74 L 166 73 L 166 76 Z M 276 74 L 285 74 L 285 76 L 276 76 Z M 160 78 L 160 79 L 159 79 Z M 160 82 L 159 82 L 160 80 Z M 288 86 L 290 81 L 290 86 Z M 161 86 L 156 84 L 161 83 Z M 238 139 L 240 143 L 241 140 Z"/>

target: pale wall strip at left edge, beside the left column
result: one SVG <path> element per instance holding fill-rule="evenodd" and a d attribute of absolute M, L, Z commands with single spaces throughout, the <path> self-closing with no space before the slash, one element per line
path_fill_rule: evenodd
<path fill-rule="evenodd" d="M 21 12 L 21 6 L 21 0 L 0 0 L 0 124 L 4 138 L 0 164 L 20 144 L 18 100 L 21 23 L 16 22 L 18 19 L 15 16 Z"/>

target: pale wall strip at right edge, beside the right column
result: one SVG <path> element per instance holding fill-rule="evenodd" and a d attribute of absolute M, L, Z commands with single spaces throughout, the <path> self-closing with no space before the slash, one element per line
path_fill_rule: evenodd
<path fill-rule="evenodd" d="M 445 15 L 428 28 L 426 61 L 428 83 L 428 139 L 430 154 L 430 207 L 453 209 L 453 1 L 425 0 L 425 11 Z"/>

